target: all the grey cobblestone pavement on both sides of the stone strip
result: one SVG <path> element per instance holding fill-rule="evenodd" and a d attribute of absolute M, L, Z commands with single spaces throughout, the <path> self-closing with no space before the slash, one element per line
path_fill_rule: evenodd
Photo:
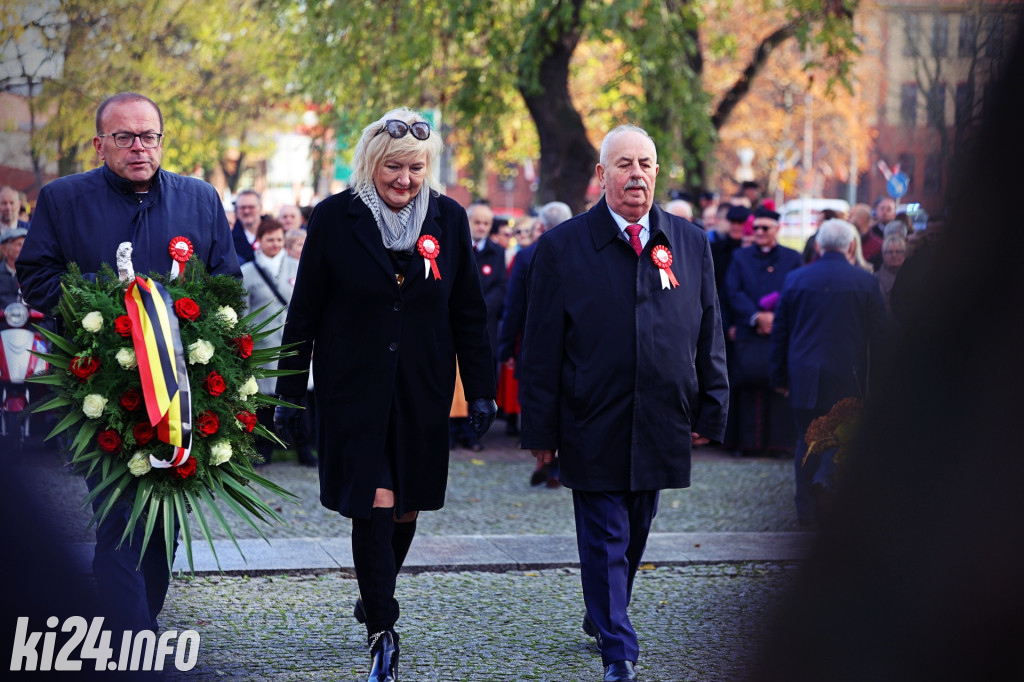
<path fill-rule="evenodd" d="M 496 431 L 503 430 L 499 421 Z M 445 506 L 421 515 L 418 532 L 573 534 L 565 488 L 531 487 L 534 460 L 513 438 L 492 433 L 480 453 L 452 453 Z M 262 473 L 298 496 L 268 501 L 284 524 L 267 537 L 347 536 L 347 519 L 318 502 L 313 468 L 280 458 Z M 81 478 L 53 455 L 30 454 L 27 477 L 54 510 L 67 542 L 91 542 L 78 508 Z M 799 530 L 790 460 L 734 459 L 711 449 L 693 458 L 693 484 L 663 493 L 654 532 Z M 256 534 L 233 524 L 239 538 Z M 218 537 L 223 537 L 218 531 Z M 745 562 L 641 570 L 630 607 L 640 636 L 643 682 L 737 680 L 754 660 L 771 614 L 795 583 L 799 562 Z M 360 680 L 369 670 L 366 633 L 351 616 L 355 581 L 338 570 L 302 574 L 177 576 L 162 630 L 198 631 L 199 665 L 180 680 Z M 400 679 L 469 681 L 600 680 L 593 640 L 580 623 L 578 568 L 402 574 Z"/>

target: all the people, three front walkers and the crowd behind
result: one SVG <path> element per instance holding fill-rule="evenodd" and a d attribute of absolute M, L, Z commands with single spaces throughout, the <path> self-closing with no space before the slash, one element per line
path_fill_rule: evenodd
<path fill-rule="evenodd" d="M 449 452 L 481 450 L 499 414 L 536 458 L 530 484 L 571 488 L 583 628 L 604 680 L 636 679 L 627 606 L 658 491 L 689 485 L 695 446 L 793 456 L 798 518 L 813 523 L 807 425 L 867 390 L 904 273 L 941 226 L 913 233 L 882 199 L 823 213 L 801 252 L 779 243 L 754 182 L 663 208 L 654 140 L 634 126 L 605 136 L 604 195 L 588 211 L 551 202 L 496 219 L 433 186 L 441 141 L 408 109 L 362 130 L 349 189 L 273 216 L 247 188 L 231 224 L 210 185 L 161 169 L 151 99 L 115 95 L 96 127 L 103 165 L 44 187 L 31 223 L 0 189 L 0 295 L 50 310 L 70 259 L 95 272 L 124 241 L 136 269 L 169 269 L 183 228 L 167 207 L 190 216 L 196 255 L 240 278 L 250 310 L 279 328 L 260 343 L 296 349 L 281 361 L 293 373 L 260 386 L 286 404 L 257 417 L 317 466 L 322 503 L 352 521 L 352 612 L 375 681 L 397 677 L 395 580 L 418 515 L 443 505 Z M 268 464 L 273 444 L 258 452 Z M 156 629 L 166 563 L 120 545 L 123 511 L 97 528 L 97 584 L 125 629 Z"/>

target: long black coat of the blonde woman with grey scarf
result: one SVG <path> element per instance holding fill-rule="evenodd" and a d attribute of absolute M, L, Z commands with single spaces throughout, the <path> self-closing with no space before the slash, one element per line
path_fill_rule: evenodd
<path fill-rule="evenodd" d="M 373 213 L 351 190 L 321 202 L 308 229 L 284 336 L 298 353 L 280 365 L 302 373 L 280 378 L 276 392 L 305 394 L 315 347 L 321 503 L 369 518 L 390 447 L 396 512 L 439 509 L 457 354 L 466 396 L 495 396 L 466 211 L 430 198 L 421 236 L 437 239 L 441 279 L 417 254 L 401 286 Z"/>

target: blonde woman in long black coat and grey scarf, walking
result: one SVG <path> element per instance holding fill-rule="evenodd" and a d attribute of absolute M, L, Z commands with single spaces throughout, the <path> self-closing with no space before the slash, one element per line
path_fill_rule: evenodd
<path fill-rule="evenodd" d="M 321 503 L 352 519 L 370 682 L 397 679 L 395 579 L 417 515 L 444 503 L 457 356 L 478 435 L 497 411 L 466 211 L 431 186 L 441 146 L 409 109 L 362 130 L 352 187 L 310 217 L 281 363 L 301 372 L 278 381 L 301 396 L 315 347 Z M 296 420 L 278 409 L 283 437 Z"/>

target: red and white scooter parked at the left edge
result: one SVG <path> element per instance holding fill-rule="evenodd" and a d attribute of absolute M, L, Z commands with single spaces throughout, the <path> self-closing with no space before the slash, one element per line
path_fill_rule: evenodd
<path fill-rule="evenodd" d="M 0 437 L 11 438 L 18 446 L 31 435 L 28 408 L 32 393 L 26 379 L 44 374 L 49 367 L 30 352 L 49 352 L 43 335 L 30 327 L 43 317 L 42 312 L 20 299 L 0 310 Z M 34 390 L 41 396 L 44 389 L 40 386 Z"/>

